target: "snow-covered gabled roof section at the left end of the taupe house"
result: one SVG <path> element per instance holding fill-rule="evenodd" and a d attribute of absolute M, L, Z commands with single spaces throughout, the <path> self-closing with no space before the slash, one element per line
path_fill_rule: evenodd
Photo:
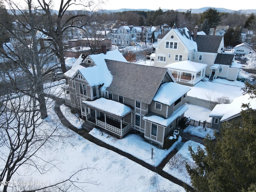
<path fill-rule="evenodd" d="M 80 55 L 80 57 L 73 64 L 72 68 L 64 73 L 64 75 L 69 78 L 74 78 L 77 71 L 79 71 L 90 86 L 104 85 L 102 86 L 102 89 L 105 89 L 106 87 L 110 86 L 113 79 L 112 74 L 107 68 L 105 59 L 127 62 L 124 56 L 122 56 L 118 50 L 108 51 L 106 54 L 101 53 L 89 55 L 88 57 L 93 61 L 95 64 L 94 66 L 81 66 L 80 64 L 82 63 L 83 58 L 82 55 Z"/>

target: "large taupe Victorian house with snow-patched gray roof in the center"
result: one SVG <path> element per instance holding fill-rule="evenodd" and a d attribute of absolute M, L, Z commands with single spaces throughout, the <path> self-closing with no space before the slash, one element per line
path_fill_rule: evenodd
<path fill-rule="evenodd" d="M 117 138 L 133 131 L 162 147 L 188 110 L 188 86 L 166 68 L 128 63 L 118 50 L 81 55 L 64 75 L 66 104 Z"/>

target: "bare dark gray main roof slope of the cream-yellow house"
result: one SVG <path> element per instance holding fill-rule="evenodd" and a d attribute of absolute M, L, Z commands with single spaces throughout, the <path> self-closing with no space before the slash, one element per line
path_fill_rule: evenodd
<path fill-rule="evenodd" d="M 217 53 L 223 36 L 198 35 L 194 41 L 198 52 Z"/>

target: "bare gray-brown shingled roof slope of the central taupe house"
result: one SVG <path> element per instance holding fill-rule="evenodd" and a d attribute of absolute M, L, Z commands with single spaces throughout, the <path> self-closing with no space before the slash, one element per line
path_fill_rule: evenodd
<path fill-rule="evenodd" d="M 113 76 L 108 92 L 150 104 L 166 74 L 166 68 L 106 60 Z"/>

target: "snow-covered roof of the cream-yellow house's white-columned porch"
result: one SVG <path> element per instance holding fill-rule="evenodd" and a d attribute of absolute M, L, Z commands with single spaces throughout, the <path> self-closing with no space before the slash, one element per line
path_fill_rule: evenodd
<path fill-rule="evenodd" d="M 165 66 L 165 68 L 178 69 L 178 70 L 189 71 L 189 72 L 199 72 L 200 70 L 206 67 L 207 67 L 207 64 L 192 62 L 189 60 L 175 62 Z"/>

